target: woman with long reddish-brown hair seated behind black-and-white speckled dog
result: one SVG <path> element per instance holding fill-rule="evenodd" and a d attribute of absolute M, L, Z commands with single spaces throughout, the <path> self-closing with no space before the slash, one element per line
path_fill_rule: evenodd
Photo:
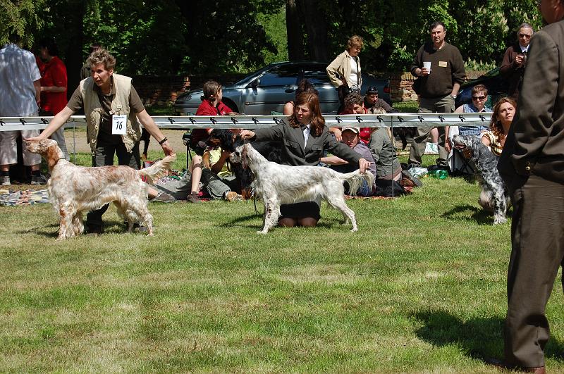
<path fill-rule="evenodd" d="M 482 135 L 482 143 L 486 144 L 496 156 L 500 156 L 501 151 L 503 151 L 505 138 L 508 135 L 511 122 L 513 122 L 515 111 L 517 111 L 517 103 L 510 97 L 503 97 L 494 106 L 489 131 Z"/>

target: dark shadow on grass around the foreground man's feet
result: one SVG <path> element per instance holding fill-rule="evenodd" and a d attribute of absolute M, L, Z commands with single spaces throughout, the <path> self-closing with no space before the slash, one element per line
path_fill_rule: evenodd
<path fill-rule="evenodd" d="M 460 320 L 446 311 L 423 311 L 412 314 L 422 324 L 415 330 L 420 339 L 436 346 L 460 347 L 473 359 L 503 359 L 503 323 L 500 317 L 477 317 Z M 564 344 L 551 338 L 546 344 L 546 357 L 562 360 Z"/>

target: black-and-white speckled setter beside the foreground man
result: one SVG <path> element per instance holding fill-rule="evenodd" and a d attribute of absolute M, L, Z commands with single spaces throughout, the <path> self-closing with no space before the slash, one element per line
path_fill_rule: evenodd
<path fill-rule="evenodd" d="M 498 172 L 498 157 L 475 135 L 455 135 L 453 147 L 461 151 L 468 149 L 472 154 L 472 161 L 476 166 L 474 173 L 478 175 L 482 187 L 479 204 L 494 211 L 494 225 L 507 222 L 510 200 L 507 187 Z"/>

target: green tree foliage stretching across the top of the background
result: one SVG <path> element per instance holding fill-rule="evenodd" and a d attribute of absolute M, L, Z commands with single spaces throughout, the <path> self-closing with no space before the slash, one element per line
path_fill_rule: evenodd
<path fill-rule="evenodd" d="M 348 37 L 369 70 L 404 70 L 441 20 L 466 61 L 499 63 L 536 0 L 0 0 L 0 42 L 55 37 L 69 78 L 99 42 L 125 74 L 247 73 L 282 59 L 331 60 Z M 287 7 L 293 6 L 290 13 Z M 288 27 L 288 32 L 286 28 Z M 77 68 L 78 66 L 78 68 Z"/>

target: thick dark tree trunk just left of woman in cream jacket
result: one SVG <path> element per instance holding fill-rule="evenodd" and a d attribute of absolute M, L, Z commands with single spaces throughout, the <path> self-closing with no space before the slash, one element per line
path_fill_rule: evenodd
<path fill-rule="evenodd" d="M 288 1 L 286 1 L 286 4 L 288 4 Z M 309 57 L 315 61 L 329 62 L 327 23 L 325 13 L 321 11 L 319 6 L 319 0 L 300 1 L 300 5 L 302 14 L 307 20 L 305 29 L 307 30 L 307 49 L 309 51 Z"/>

